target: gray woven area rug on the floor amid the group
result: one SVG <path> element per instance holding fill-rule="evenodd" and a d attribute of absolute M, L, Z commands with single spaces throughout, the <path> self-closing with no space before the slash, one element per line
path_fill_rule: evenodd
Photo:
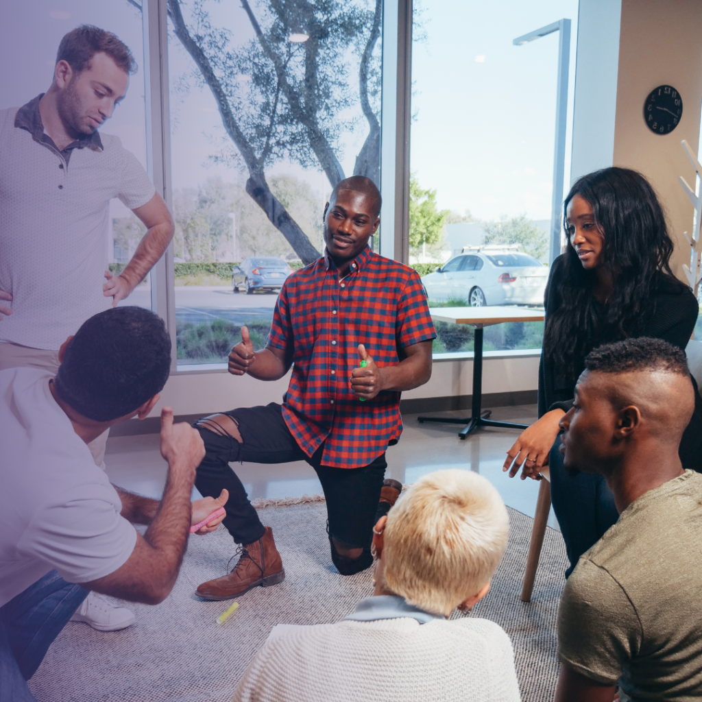
<path fill-rule="evenodd" d="M 282 552 L 286 580 L 256 588 L 223 624 L 229 602 L 194 595 L 202 581 L 225 573 L 234 548 L 224 529 L 191 536 L 171 595 L 157 607 L 128 605 L 130 628 L 100 633 L 69 623 L 29 682 L 39 702 L 226 702 L 271 628 L 278 623 L 338 621 L 371 595 L 371 570 L 340 576 L 331 564 L 324 531 L 326 505 L 261 510 Z M 469 615 L 500 624 L 515 649 L 525 702 L 550 702 L 557 677 L 555 620 L 564 583 L 562 538 L 547 529 L 532 602 L 519 600 L 531 519 L 510 510 L 510 542 L 485 599 Z"/>

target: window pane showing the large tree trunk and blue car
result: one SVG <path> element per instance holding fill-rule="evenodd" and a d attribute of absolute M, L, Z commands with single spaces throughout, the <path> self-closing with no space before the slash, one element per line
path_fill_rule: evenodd
<path fill-rule="evenodd" d="M 178 364 L 224 363 L 321 255 L 333 185 L 378 183 L 382 1 L 171 5 Z"/>

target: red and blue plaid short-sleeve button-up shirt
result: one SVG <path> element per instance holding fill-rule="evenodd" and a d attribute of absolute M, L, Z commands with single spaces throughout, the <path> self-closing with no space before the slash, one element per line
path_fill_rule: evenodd
<path fill-rule="evenodd" d="M 293 273 L 273 314 L 268 345 L 286 350 L 293 374 L 284 397 L 286 425 L 307 456 L 324 444 L 322 465 L 368 465 L 402 434 L 399 392 L 361 402 L 351 371 L 364 344 L 380 368 L 397 350 L 436 337 L 415 270 L 366 247 L 341 282 L 329 253 Z"/>

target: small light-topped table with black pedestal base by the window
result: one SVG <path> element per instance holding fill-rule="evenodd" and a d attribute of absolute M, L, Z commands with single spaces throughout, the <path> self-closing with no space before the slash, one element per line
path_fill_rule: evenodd
<path fill-rule="evenodd" d="M 496 422 L 489 419 L 490 410 L 482 412 L 482 345 L 483 329 L 492 324 L 503 322 L 543 322 L 543 310 L 531 310 L 528 307 L 430 307 L 429 310 L 435 322 L 453 322 L 453 324 L 470 324 L 475 327 L 475 343 L 473 345 L 473 389 L 471 416 L 457 417 L 418 417 L 420 422 L 442 422 L 448 424 L 464 424 L 458 432 L 465 439 L 470 432 L 478 427 L 504 427 L 508 429 L 526 429 L 528 424 L 512 422 Z"/>

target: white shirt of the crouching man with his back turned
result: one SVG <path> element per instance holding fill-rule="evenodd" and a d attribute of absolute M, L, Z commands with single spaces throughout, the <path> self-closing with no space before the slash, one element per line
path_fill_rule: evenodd
<path fill-rule="evenodd" d="M 53 399 L 51 377 L 0 371 L 0 607 L 53 569 L 69 583 L 114 573 L 136 544 L 117 491 Z"/>

